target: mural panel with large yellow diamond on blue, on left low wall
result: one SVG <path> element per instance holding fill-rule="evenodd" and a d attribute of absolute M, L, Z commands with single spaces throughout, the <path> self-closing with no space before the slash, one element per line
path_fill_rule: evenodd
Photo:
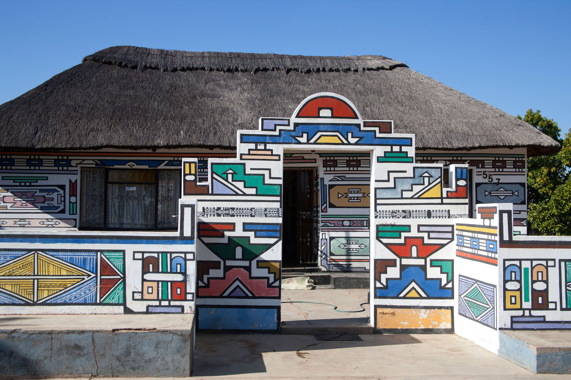
<path fill-rule="evenodd" d="M 1 304 L 122 305 L 124 251 L 0 252 Z"/>

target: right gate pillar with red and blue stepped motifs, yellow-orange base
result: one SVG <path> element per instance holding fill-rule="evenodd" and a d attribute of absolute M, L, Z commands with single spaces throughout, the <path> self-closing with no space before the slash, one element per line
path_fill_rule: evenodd
<path fill-rule="evenodd" d="M 371 321 L 381 332 L 452 332 L 454 219 L 468 214 L 468 165 L 374 168 Z M 374 258 L 373 258 L 374 256 Z"/>

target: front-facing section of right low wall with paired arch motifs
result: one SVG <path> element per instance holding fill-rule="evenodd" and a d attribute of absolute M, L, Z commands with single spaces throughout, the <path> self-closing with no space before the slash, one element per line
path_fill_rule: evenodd
<path fill-rule="evenodd" d="M 500 249 L 500 328 L 571 329 L 571 236 L 514 236 Z"/>

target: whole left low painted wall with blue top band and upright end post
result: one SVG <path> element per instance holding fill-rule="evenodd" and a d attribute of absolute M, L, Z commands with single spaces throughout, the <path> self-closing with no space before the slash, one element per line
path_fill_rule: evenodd
<path fill-rule="evenodd" d="M 1 314 L 194 313 L 196 201 L 179 231 L 0 231 Z"/>

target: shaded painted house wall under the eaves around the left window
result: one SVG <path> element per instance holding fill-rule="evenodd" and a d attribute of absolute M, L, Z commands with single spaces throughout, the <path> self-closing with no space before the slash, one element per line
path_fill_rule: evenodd
<path fill-rule="evenodd" d="M 182 157 L 196 157 L 207 178 L 211 157 L 235 157 L 210 149 L 163 152 L 102 151 L 11 152 L 0 158 L 0 229 L 77 231 L 81 212 L 82 168 L 180 169 Z"/>

